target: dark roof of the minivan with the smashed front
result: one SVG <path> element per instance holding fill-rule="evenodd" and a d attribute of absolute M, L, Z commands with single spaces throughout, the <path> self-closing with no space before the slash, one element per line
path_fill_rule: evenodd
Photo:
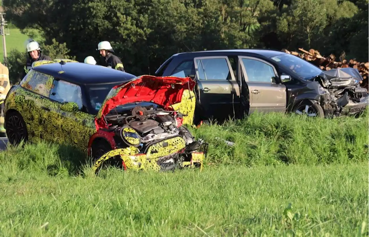
<path fill-rule="evenodd" d="M 272 49 L 225 49 L 225 50 L 206 50 L 206 51 L 196 51 L 196 52 L 182 52 L 178 54 L 174 54 L 173 56 L 178 55 L 185 55 L 185 54 L 199 54 L 199 55 L 206 55 L 206 54 L 216 54 L 216 53 L 250 53 L 250 54 L 258 54 L 264 57 L 270 58 L 279 54 L 285 54 L 282 51 L 272 50 Z"/>

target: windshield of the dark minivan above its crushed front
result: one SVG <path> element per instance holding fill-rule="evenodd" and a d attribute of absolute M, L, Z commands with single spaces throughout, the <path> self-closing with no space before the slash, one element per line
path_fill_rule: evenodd
<path fill-rule="evenodd" d="M 277 63 L 291 69 L 304 80 L 311 79 L 323 72 L 320 68 L 314 66 L 310 62 L 292 54 L 280 54 L 271 58 Z"/>

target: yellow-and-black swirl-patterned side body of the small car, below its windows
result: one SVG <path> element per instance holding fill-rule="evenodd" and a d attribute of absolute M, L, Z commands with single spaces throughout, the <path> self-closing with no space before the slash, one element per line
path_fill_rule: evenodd
<path fill-rule="evenodd" d="M 50 111 L 41 109 L 41 106 Z M 17 86 L 8 95 L 4 113 L 12 109 L 21 114 L 31 142 L 46 140 L 76 146 L 87 152 L 90 136 L 96 132 L 94 116 L 81 111 L 64 111 L 61 107 L 61 103 Z"/>

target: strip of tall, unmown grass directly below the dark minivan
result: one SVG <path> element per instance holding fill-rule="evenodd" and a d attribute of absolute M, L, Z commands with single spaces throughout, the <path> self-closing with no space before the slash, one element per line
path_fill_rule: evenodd
<path fill-rule="evenodd" d="M 192 131 L 209 143 L 207 161 L 215 164 L 317 165 L 368 160 L 368 128 L 366 110 L 359 118 L 335 119 L 255 113 Z M 235 144 L 229 146 L 224 140 Z"/>

